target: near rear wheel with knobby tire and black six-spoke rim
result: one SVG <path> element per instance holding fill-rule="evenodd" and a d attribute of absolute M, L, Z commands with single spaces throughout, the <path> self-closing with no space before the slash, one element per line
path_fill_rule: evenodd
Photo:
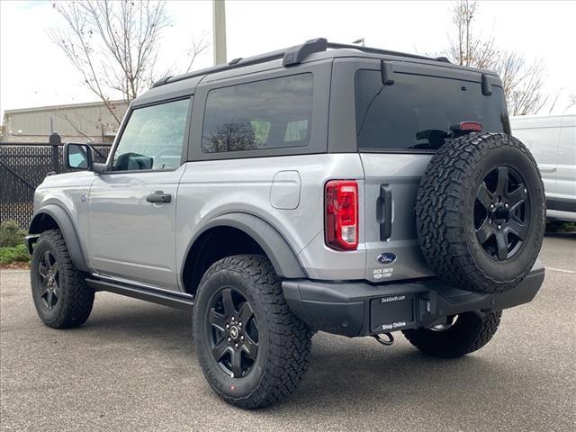
<path fill-rule="evenodd" d="M 312 332 L 290 311 L 267 257 L 234 255 L 213 263 L 202 276 L 192 320 L 202 373 L 224 401 L 262 408 L 301 382 Z"/>

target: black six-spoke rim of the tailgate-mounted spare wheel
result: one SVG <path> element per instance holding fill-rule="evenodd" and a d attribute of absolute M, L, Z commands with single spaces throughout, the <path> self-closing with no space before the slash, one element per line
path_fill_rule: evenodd
<path fill-rule="evenodd" d="M 484 251 L 504 261 L 518 252 L 530 223 L 527 187 L 511 166 L 492 169 L 478 188 L 474 228 Z"/>

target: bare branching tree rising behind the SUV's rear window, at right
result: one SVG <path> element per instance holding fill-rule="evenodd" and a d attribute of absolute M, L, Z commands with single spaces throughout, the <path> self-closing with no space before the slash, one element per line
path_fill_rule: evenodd
<path fill-rule="evenodd" d="M 542 60 L 529 64 L 520 53 L 499 49 L 494 36 L 483 36 L 474 27 L 479 14 L 476 1 L 459 0 L 452 8 L 455 31 L 444 52 L 458 65 L 493 69 L 500 75 L 509 113 L 524 115 L 540 111 L 549 102 L 544 93 Z"/>

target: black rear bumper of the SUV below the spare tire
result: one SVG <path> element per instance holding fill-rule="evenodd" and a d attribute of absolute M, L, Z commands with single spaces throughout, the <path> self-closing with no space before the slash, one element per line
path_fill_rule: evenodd
<path fill-rule="evenodd" d="M 293 279 L 282 288 L 290 309 L 312 329 L 352 338 L 429 327 L 449 315 L 531 302 L 544 277 L 544 266 L 536 261 L 521 284 L 500 294 L 470 293 L 437 279 L 380 285 Z"/>

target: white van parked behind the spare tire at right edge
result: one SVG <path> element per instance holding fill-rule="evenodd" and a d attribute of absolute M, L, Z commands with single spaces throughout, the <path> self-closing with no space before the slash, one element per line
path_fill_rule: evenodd
<path fill-rule="evenodd" d="M 576 114 L 511 117 L 510 125 L 536 158 L 548 219 L 576 221 Z"/>

